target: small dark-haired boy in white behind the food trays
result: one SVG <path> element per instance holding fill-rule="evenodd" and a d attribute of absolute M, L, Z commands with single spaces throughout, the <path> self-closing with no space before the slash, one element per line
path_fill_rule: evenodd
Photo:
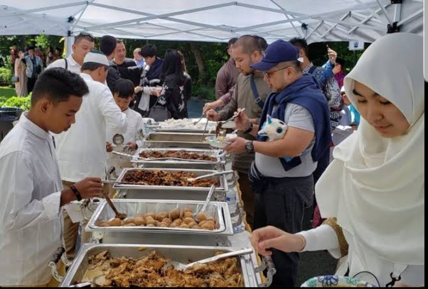
<path fill-rule="evenodd" d="M 131 80 L 119 79 L 116 81 L 113 89 L 113 97 L 116 104 L 125 113 L 128 118 L 128 128 L 123 134 L 125 139 L 124 144 L 127 144 L 131 150 L 137 150 L 137 148 L 143 145 L 141 140 L 136 139 L 137 131 L 143 128 L 143 118 L 141 115 L 130 109 L 129 104 L 134 100 L 134 83 Z M 117 132 L 107 127 L 107 152 L 113 151 L 113 136 Z M 107 165 L 114 166 L 117 169 L 126 167 L 126 163 L 129 159 L 121 158 L 120 156 L 109 154 L 107 157 Z"/>

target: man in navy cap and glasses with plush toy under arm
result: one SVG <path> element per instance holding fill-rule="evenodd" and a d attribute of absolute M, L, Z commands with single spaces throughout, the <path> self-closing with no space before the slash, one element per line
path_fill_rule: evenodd
<path fill-rule="evenodd" d="M 250 182 L 256 192 L 254 227 L 278 227 L 289 233 L 302 230 L 303 214 L 312 203 L 312 173 L 318 159 L 329 149 L 330 118 L 327 100 L 312 75 L 303 76 L 299 51 L 289 42 L 269 45 L 261 62 L 251 65 L 265 71 L 265 81 L 274 91 L 265 102 L 260 127 L 268 115 L 287 126 L 282 139 L 258 136 L 259 126 L 242 113 L 235 119 L 239 130 L 250 131 L 257 141 L 237 138 L 228 152 L 255 152 Z M 260 240 L 263 241 L 263 240 Z M 299 255 L 273 251 L 277 274 L 273 287 L 294 287 Z"/>

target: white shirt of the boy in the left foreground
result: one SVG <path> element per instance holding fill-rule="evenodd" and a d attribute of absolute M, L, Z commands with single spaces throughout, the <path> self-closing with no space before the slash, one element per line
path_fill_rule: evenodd
<path fill-rule="evenodd" d="M 21 115 L 0 144 L 0 286 L 51 280 L 62 244 L 62 183 L 52 136 Z"/>

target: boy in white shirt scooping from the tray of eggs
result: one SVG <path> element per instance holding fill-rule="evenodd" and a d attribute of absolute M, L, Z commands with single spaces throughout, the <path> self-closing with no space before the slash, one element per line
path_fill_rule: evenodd
<path fill-rule="evenodd" d="M 29 112 L 0 144 L 0 286 L 44 287 L 62 245 L 62 207 L 100 197 L 99 177 L 63 187 L 51 133 L 74 124 L 88 86 L 63 68 L 40 74 Z"/>

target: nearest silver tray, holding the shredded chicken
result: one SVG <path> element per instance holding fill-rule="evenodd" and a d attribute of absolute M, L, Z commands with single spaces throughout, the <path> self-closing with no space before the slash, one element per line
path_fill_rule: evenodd
<path fill-rule="evenodd" d="M 217 252 L 230 252 L 236 251 L 241 248 L 223 248 L 223 247 L 199 247 L 199 246 L 177 246 L 177 245 L 125 245 L 125 244 L 112 244 L 112 245 L 93 245 L 85 244 L 79 251 L 74 259 L 73 264 L 68 269 L 66 276 L 62 280 L 59 287 L 67 287 L 73 283 L 78 283 L 83 279 L 88 266 L 89 257 L 99 254 L 108 250 L 112 257 L 132 257 L 141 258 L 147 256 L 153 250 L 162 254 L 164 257 L 174 261 L 188 263 L 190 261 L 197 261 L 203 258 L 214 256 Z M 244 280 L 245 287 L 258 287 L 256 271 L 254 269 L 252 256 L 245 255 L 239 256 L 238 267 Z"/>

